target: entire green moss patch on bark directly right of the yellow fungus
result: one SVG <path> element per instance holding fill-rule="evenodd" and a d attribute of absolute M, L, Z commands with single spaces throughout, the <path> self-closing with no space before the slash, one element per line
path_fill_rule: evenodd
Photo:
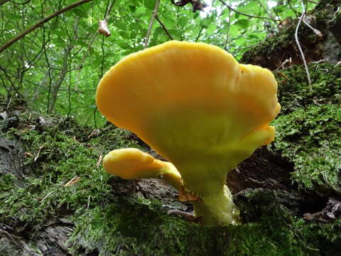
<path fill-rule="evenodd" d="M 278 75 L 281 115 L 274 151 L 294 164 L 293 181 L 320 193 L 341 193 L 341 68 L 328 63 L 310 64 L 311 89 L 303 65 Z"/>

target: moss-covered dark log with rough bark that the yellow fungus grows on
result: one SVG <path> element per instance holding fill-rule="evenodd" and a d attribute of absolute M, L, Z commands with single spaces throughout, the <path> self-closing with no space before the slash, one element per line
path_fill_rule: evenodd
<path fill-rule="evenodd" d="M 320 1 L 310 14 L 323 38 L 310 38 L 302 26 L 308 62 L 324 58 L 315 50 L 328 43 L 340 59 L 340 16 L 330 16 L 338 6 Z M 278 70 L 283 110 L 274 123 L 276 141 L 227 179 L 241 225 L 210 227 L 167 215 L 192 208 L 159 181 L 105 174 L 99 162 L 109 150 L 151 152 L 134 134 L 43 117 L 6 102 L 0 106 L 6 112 L 0 117 L 0 255 L 338 255 L 341 68 L 310 63 L 310 89 L 303 65 L 293 65 L 301 64 L 293 22 L 243 58 L 272 70 L 294 61 Z"/>

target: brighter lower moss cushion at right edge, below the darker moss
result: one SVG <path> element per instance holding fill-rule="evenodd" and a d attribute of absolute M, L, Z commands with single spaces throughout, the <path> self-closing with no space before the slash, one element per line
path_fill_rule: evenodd
<path fill-rule="evenodd" d="M 340 105 L 308 105 L 278 117 L 275 151 L 295 164 L 293 180 L 304 188 L 341 193 Z"/>

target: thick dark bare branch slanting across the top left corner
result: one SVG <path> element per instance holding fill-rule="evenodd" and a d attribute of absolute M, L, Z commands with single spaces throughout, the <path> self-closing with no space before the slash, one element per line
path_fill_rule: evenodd
<path fill-rule="evenodd" d="M 1 1 L 1 0 L 0 0 Z M 0 53 L 4 50 L 6 50 L 6 48 L 9 48 L 9 46 L 11 46 L 13 43 L 16 43 L 16 41 L 20 40 L 21 38 L 23 38 L 24 36 L 26 36 L 28 33 L 31 33 L 32 31 L 34 31 L 36 28 L 38 28 L 39 26 L 43 25 L 43 23 L 46 23 L 48 21 L 50 21 L 51 18 L 55 18 L 55 16 L 58 16 L 59 14 L 63 14 L 65 11 L 70 11 L 71 9 L 80 6 L 81 4 L 85 4 L 89 1 L 92 0 L 81 0 L 81 1 L 77 1 L 73 4 L 70 4 L 70 6 L 66 6 L 63 9 L 60 9 L 58 11 L 56 11 L 54 14 L 50 14 L 49 16 L 43 18 L 42 20 L 38 21 L 38 23 L 34 24 L 33 26 L 31 26 L 31 28 L 27 28 L 25 31 L 23 31 L 22 33 L 20 33 L 18 36 L 16 36 L 15 38 L 12 38 L 10 41 L 7 41 L 4 46 L 1 46 L 0 48 Z M 0 2 L 1 3 L 1 2 Z"/>

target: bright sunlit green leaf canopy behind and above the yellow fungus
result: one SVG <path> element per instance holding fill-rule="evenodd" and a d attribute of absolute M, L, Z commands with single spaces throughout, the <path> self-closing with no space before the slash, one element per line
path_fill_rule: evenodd
<path fill-rule="evenodd" d="M 173 1 L 175 3 L 179 1 Z M 71 0 L 1 1 L 0 46 Z M 173 38 L 210 43 L 237 59 L 273 36 L 287 18 L 301 15 L 301 0 L 206 0 L 203 11 L 161 0 L 92 0 L 59 14 L 0 53 L 0 95 L 21 95 L 41 112 L 75 117 L 99 126 L 94 94 L 102 75 L 118 60 Z M 309 11 L 315 1 L 304 1 Z M 97 33 L 107 18 L 111 36 Z"/>

